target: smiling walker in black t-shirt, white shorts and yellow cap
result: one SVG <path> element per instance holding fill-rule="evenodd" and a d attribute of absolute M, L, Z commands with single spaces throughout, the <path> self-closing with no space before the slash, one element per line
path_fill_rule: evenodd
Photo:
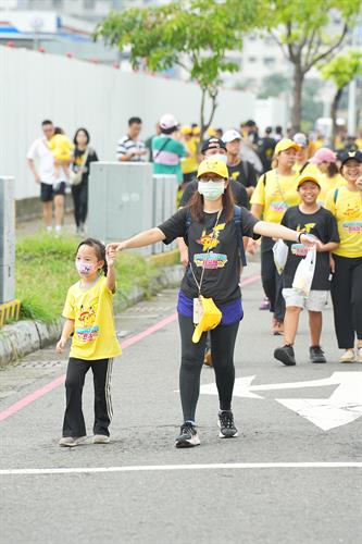
<path fill-rule="evenodd" d="M 316 202 L 321 186 L 316 177 L 303 176 L 299 180 L 298 190 L 301 205 L 289 208 L 282 220 L 282 225 L 315 236 L 322 245 L 317 248 L 314 277 L 310 295 L 292 287 L 296 270 L 307 249 L 301 244 L 290 244 L 287 262 L 283 271 L 283 296 L 286 301 L 284 319 L 284 346 L 274 351 L 274 357 L 284 364 L 296 364 L 294 343 L 298 330 L 299 314 L 303 308 L 309 311 L 310 324 L 310 360 L 311 362 L 326 362 L 320 346 L 322 333 L 322 310 L 327 302 L 329 290 L 329 252 L 339 245 L 337 222 L 333 214 Z"/>

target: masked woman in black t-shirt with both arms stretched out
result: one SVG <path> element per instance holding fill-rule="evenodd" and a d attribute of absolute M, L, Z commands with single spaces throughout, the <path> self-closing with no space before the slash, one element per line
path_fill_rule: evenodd
<path fill-rule="evenodd" d="M 237 223 L 235 221 L 237 209 L 233 201 L 224 162 L 202 161 L 198 170 L 198 190 L 187 208 L 182 208 L 155 228 L 108 246 L 110 249 L 123 250 L 162 240 L 171 244 L 180 236 L 187 242 L 190 264 L 182 281 L 177 305 L 182 338 L 179 392 L 184 423 L 176 438 L 176 447 L 192 447 L 200 444 L 195 415 L 207 333 L 194 337 L 198 332 L 195 329 L 198 312 L 194 312 L 192 308 L 200 309 L 201 296 L 211 298 L 221 311 L 221 322 L 211 330 L 212 359 L 220 401 L 219 436 L 232 438 L 238 435 L 232 412 L 232 397 L 235 382 L 234 347 L 244 314 L 239 287 L 240 235 L 253 238 L 260 235 L 284 237 L 291 242 L 298 239 L 308 246 L 316 244 L 302 233 L 255 219 L 246 208 L 241 208 L 240 223 Z M 236 228 L 241 228 L 239 236 Z"/>

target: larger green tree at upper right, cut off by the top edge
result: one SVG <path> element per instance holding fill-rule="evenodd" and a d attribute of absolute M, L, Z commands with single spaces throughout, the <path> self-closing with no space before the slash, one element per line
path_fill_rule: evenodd
<path fill-rule="evenodd" d="M 294 65 L 291 122 L 299 131 L 305 74 L 330 58 L 342 44 L 355 22 L 361 0 L 266 0 L 266 3 L 270 5 L 266 26 Z"/>

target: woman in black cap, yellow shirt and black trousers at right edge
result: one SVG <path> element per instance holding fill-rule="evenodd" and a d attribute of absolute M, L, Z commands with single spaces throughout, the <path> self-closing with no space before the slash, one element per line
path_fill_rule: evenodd
<path fill-rule="evenodd" d="M 362 362 L 362 152 L 346 151 L 340 159 L 347 185 L 330 190 L 325 205 L 340 237 L 333 252 L 330 293 L 338 347 L 345 349 L 340 361 Z"/>

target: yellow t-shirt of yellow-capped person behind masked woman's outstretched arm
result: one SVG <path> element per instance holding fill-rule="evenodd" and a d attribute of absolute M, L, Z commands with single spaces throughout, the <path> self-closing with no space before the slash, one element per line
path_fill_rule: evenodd
<path fill-rule="evenodd" d="M 287 209 L 300 203 L 297 185 L 297 172 L 292 175 L 280 175 L 277 170 L 270 170 L 260 176 L 250 203 L 263 206 L 264 221 L 280 223 Z"/>

